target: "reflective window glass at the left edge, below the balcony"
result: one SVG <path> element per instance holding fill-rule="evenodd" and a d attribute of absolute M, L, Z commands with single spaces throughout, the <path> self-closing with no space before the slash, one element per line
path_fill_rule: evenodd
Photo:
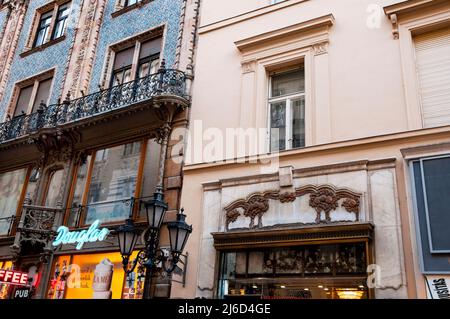
<path fill-rule="evenodd" d="M 16 216 L 27 169 L 0 173 L 0 236 L 7 235 Z"/>

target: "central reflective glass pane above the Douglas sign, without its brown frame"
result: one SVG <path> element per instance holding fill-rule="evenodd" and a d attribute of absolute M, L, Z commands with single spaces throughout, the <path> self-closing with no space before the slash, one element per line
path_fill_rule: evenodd
<path fill-rule="evenodd" d="M 130 216 L 140 154 L 125 156 L 126 145 L 96 152 L 88 194 L 86 224 L 114 222 Z M 97 157 L 98 155 L 98 157 Z"/>

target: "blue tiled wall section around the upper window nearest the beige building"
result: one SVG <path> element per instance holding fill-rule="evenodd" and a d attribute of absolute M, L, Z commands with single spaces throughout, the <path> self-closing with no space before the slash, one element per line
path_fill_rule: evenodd
<path fill-rule="evenodd" d="M 90 83 L 90 92 L 98 90 L 105 54 L 108 52 L 108 47 L 111 44 L 159 25 L 165 24 L 167 28 L 164 43 L 166 65 L 171 67 L 175 63 L 183 0 L 153 0 L 140 8 L 113 18 L 111 14 L 114 12 L 115 2 L 116 0 L 108 0 L 105 10 Z"/>

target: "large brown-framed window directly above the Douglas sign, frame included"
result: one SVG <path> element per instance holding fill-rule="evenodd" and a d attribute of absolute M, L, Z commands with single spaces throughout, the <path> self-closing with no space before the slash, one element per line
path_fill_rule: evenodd
<path fill-rule="evenodd" d="M 82 227 L 95 220 L 144 218 L 130 201 L 148 200 L 155 192 L 159 153 L 160 145 L 153 140 L 93 151 L 78 167 L 67 224 Z"/>

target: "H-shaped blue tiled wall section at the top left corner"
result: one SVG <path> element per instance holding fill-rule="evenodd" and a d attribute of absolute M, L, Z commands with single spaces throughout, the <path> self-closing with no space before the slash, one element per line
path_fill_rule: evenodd
<path fill-rule="evenodd" d="M 4 118 L 6 109 L 10 103 L 13 93 L 14 85 L 23 79 L 38 75 L 44 71 L 54 68 L 55 76 L 53 78 L 52 91 L 49 99 L 49 104 L 56 103 L 61 92 L 61 85 L 63 83 L 64 71 L 69 57 L 69 50 L 73 41 L 75 32 L 74 25 L 79 16 L 79 4 L 82 0 L 73 0 L 71 6 L 71 15 L 69 24 L 66 30 L 66 39 L 40 52 L 35 52 L 24 58 L 19 54 L 25 51 L 25 45 L 30 36 L 31 25 L 36 13 L 36 9 L 42 7 L 48 0 L 33 0 L 30 1 L 22 32 L 19 37 L 19 44 L 11 65 L 11 73 L 5 89 L 5 95 L 0 103 L 0 119 Z"/>

